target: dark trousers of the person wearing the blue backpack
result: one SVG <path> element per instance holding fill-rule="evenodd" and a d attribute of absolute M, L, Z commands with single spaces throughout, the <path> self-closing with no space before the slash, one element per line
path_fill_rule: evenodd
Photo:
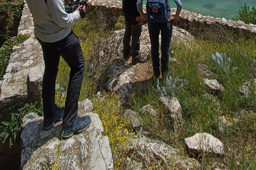
<path fill-rule="evenodd" d="M 151 57 L 153 71 L 160 73 L 159 64 L 159 34 L 161 31 L 161 72 L 162 75 L 169 71 L 169 49 L 172 38 L 172 22 L 151 23 L 148 22 L 148 31 L 151 43 Z"/>

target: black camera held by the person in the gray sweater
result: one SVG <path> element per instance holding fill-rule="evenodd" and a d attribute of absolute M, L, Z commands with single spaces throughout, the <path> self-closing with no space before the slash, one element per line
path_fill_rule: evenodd
<path fill-rule="evenodd" d="M 88 0 L 83 0 L 83 1 L 80 1 L 80 0 L 76 0 L 76 1 L 70 0 L 68 2 L 68 4 L 64 4 L 64 5 L 66 5 L 65 6 L 66 13 L 68 13 L 68 14 L 73 13 L 76 10 L 76 8 L 79 7 L 80 5 L 84 5 L 85 7 L 87 7 L 87 1 Z M 79 11 L 80 11 L 81 17 L 84 18 L 85 17 L 85 12 L 84 12 L 83 8 L 80 7 Z"/>

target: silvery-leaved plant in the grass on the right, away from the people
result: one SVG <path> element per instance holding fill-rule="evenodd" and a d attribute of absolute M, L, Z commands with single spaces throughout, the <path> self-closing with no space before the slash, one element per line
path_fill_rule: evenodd
<path fill-rule="evenodd" d="M 237 69 L 237 67 L 233 67 L 233 60 L 228 58 L 226 53 L 216 52 L 215 54 L 212 54 L 212 62 L 215 69 L 223 70 L 225 73 L 229 73 L 231 69 Z"/>

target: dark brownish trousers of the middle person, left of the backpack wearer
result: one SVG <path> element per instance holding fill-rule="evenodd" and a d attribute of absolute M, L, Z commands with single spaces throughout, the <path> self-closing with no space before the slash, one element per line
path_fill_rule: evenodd
<path fill-rule="evenodd" d="M 130 53 L 136 57 L 139 55 L 140 50 L 140 34 L 142 22 L 136 21 L 137 15 L 124 14 L 125 32 L 124 32 L 124 56 Z"/>

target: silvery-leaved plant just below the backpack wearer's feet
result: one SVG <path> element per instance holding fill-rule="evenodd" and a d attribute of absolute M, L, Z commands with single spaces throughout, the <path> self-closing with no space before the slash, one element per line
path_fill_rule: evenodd
<path fill-rule="evenodd" d="M 167 96 L 169 98 L 176 96 L 181 88 L 183 87 L 183 84 L 178 87 L 178 80 L 179 77 L 177 76 L 174 80 L 172 79 L 172 76 L 166 77 L 166 85 L 165 87 L 162 85 L 162 82 L 157 80 L 156 82 L 156 89 L 160 95 Z"/>

